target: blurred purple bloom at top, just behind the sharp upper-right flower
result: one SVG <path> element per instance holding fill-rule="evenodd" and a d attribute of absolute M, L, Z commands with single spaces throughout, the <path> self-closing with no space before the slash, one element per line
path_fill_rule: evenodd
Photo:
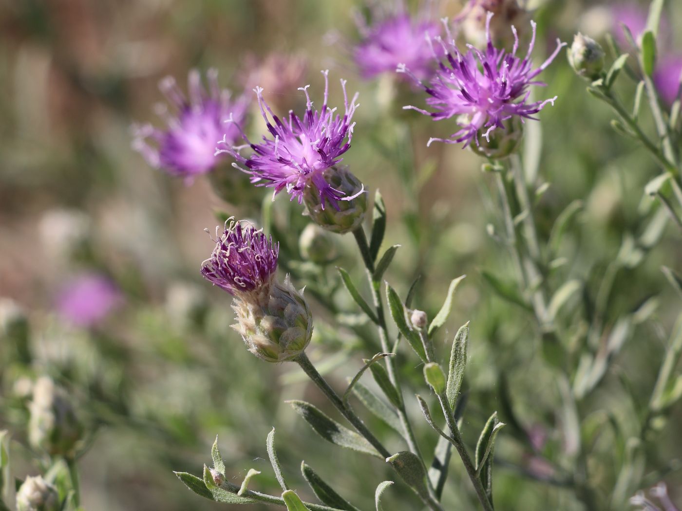
<path fill-rule="evenodd" d="M 362 77 L 370 79 L 381 73 L 395 72 L 398 64 L 404 63 L 419 78 L 428 78 L 437 58 L 426 37 L 440 33 L 438 23 L 428 20 L 426 12 L 411 16 L 402 2 L 390 14 L 372 14 L 372 25 L 357 16 L 362 40 L 353 48 L 353 59 Z"/>

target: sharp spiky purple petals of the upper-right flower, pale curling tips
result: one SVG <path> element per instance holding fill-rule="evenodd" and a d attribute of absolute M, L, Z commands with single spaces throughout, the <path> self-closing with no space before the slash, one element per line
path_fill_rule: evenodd
<path fill-rule="evenodd" d="M 462 53 L 449 37 L 450 51 L 447 51 L 445 43 L 436 38 L 444 50 L 447 51 L 447 61 L 439 65 L 439 70 L 429 84 L 423 84 L 409 68 L 404 65 L 398 67 L 399 72 L 407 73 L 421 86 L 431 97 L 426 99 L 428 106 L 434 112 L 428 112 L 416 106 L 404 106 L 405 109 L 417 110 L 422 114 L 430 115 L 434 121 L 456 117 L 456 123 L 460 129 L 449 138 L 431 138 L 434 140 L 456 144 L 464 142 L 464 147 L 471 142 L 478 145 L 479 130 L 485 130 L 482 135 L 490 140 L 490 132 L 494 129 L 505 129 L 504 121 L 513 117 L 535 119 L 534 114 L 542 110 L 548 103 L 554 104 L 554 99 L 546 99 L 542 102 L 529 102 L 531 85 L 544 85 L 534 80 L 544 69 L 550 65 L 565 43 L 557 40 L 557 49 L 539 67 L 533 69 L 531 52 L 535 45 L 535 22 L 533 37 L 528 49 L 528 55 L 521 59 L 516 57 L 518 50 L 518 37 L 514 32 L 515 43 L 511 53 L 499 50 L 492 45 L 490 40 L 490 18 L 488 14 L 486 23 L 486 35 L 488 45 L 483 52 L 468 45 L 469 51 Z M 449 34 L 448 34 L 449 35 Z"/>

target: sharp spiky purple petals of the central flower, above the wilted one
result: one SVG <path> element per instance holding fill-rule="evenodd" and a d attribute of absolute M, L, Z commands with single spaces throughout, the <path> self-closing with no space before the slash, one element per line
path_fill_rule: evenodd
<path fill-rule="evenodd" d="M 240 155 L 239 149 L 246 146 L 233 146 L 228 138 L 220 142 L 226 149 L 218 149 L 216 153 L 231 154 L 246 167 L 240 168 L 235 164 L 237 168 L 250 174 L 252 183 L 256 183 L 256 186 L 274 188 L 273 195 L 286 189 L 291 200 L 296 198 L 301 204 L 303 190 L 306 187 L 313 187 L 318 191 L 323 203 L 327 199 L 338 209 L 339 200 L 352 200 L 364 191 L 355 196 L 346 196 L 342 191 L 329 185 L 323 176 L 325 170 L 342 161 L 341 155 L 350 148 L 355 127 L 351 120 L 359 105 L 355 103 L 357 93 L 349 102 L 346 80 L 341 80 L 345 100 L 344 114 L 337 114 L 336 108 L 329 108 L 327 106 L 329 72 L 322 73 L 325 75 L 325 97 L 320 110 L 315 110 L 310 101 L 308 95 L 310 85 L 299 88 L 299 91 L 306 94 L 307 100 L 306 112 L 302 118 L 294 114 L 293 110 L 289 111 L 288 118 L 277 117 L 263 99 L 263 89 L 256 87 L 254 91 L 258 97 L 258 105 L 272 138 L 263 136 L 260 144 L 254 144 L 248 140 L 240 127 L 241 136 L 253 149 L 252 155 L 248 158 Z M 272 122 L 269 117 L 272 118 Z M 236 119 L 231 119 L 231 122 L 239 126 Z"/>

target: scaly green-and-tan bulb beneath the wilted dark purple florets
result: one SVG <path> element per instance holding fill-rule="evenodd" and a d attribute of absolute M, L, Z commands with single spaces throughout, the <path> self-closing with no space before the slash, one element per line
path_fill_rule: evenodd
<path fill-rule="evenodd" d="M 277 281 L 258 296 L 235 298 L 237 313 L 233 328 L 241 334 L 248 350 L 266 362 L 296 358 L 312 337 L 312 313 L 287 275 L 284 285 Z"/>

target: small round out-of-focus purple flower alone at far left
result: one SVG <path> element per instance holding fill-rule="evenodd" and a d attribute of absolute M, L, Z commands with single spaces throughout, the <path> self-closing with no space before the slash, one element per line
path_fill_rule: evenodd
<path fill-rule="evenodd" d="M 104 275 L 80 275 L 68 281 L 57 296 L 57 313 L 81 327 L 95 326 L 123 302 L 123 296 Z"/>

